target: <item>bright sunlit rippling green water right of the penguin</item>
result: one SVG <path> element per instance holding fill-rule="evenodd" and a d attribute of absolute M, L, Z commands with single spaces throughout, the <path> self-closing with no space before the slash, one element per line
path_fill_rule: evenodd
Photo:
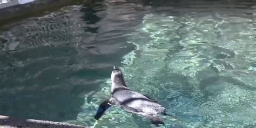
<path fill-rule="evenodd" d="M 145 15 L 129 41 L 137 54 L 125 56 L 128 85 L 160 100 L 180 126 L 255 125 L 255 16 L 243 16 Z"/>

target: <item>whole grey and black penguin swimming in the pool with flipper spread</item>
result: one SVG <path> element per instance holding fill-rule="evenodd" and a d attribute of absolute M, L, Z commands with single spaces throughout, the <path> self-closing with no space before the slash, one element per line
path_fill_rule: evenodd
<path fill-rule="evenodd" d="M 166 114 L 166 109 L 157 103 L 156 100 L 130 90 L 125 82 L 122 71 L 115 68 L 111 73 L 111 97 L 99 105 L 95 119 L 98 120 L 110 106 L 120 106 L 124 111 L 139 114 L 149 118 L 151 123 L 159 126 L 164 125 L 162 118 L 157 114 Z"/>

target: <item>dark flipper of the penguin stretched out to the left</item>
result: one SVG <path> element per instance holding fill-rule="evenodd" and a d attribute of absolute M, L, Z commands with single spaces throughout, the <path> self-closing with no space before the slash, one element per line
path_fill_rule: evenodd
<path fill-rule="evenodd" d="M 116 105 L 116 104 L 117 104 L 117 102 L 116 102 L 116 100 L 115 100 L 113 97 L 111 97 L 111 98 L 108 99 L 108 100 L 105 100 L 103 103 L 101 103 L 101 104 L 99 105 L 99 108 L 98 108 L 97 113 L 96 113 L 96 115 L 94 116 L 94 118 L 95 118 L 96 120 L 98 120 L 100 117 L 102 117 L 102 115 L 104 114 L 104 112 L 105 112 L 107 109 L 109 109 L 109 107 L 111 107 L 112 105 Z"/>

